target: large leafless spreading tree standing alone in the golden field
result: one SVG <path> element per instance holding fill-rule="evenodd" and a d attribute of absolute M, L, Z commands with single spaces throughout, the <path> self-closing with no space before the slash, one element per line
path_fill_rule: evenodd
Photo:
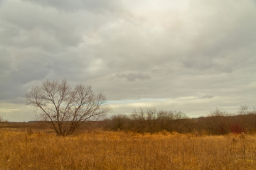
<path fill-rule="evenodd" d="M 110 111 L 106 97 L 95 94 L 91 86 L 74 88 L 67 81 L 43 81 L 26 94 L 27 104 L 41 111 L 40 118 L 53 125 L 57 135 L 71 135 L 85 121 L 102 118 Z"/>

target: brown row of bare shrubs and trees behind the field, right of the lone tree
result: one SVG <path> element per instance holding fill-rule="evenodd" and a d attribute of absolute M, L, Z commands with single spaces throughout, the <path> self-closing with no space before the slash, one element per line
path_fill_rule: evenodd
<path fill-rule="evenodd" d="M 256 132 L 256 111 L 242 106 L 236 115 L 216 109 L 210 115 L 188 118 L 181 111 L 157 111 L 154 108 L 134 111 L 132 115 L 114 115 L 103 121 L 105 130 L 125 130 L 134 132 L 179 132 L 207 135 Z"/>

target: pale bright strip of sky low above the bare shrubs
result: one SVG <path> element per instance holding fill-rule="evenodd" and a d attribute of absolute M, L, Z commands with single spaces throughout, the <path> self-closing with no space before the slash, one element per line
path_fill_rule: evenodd
<path fill-rule="evenodd" d="M 130 109 L 138 108 L 157 108 L 159 110 L 176 110 L 183 111 L 191 117 L 199 117 L 208 115 L 210 111 L 217 108 L 216 103 L 221 99 L 222 104 L 219 108 L 223 108 L 230 113 L 236 113 L 238 106 L 230 106 L 231 98 L 223 98 L 222 96 L 203 96 L 201 98 L 195 96 L 187 96 L 181 98 L 142 98 L 139 100 L 123 100 L 123 101 L 110 101 L 111 108 L 114 109 L 113 115 L 131 113 Z M 198 106 L 197 108 L 195 106 Z M 216 106 L 216 107 L 214 107 Z M 206 111 L 207 109 L 207 111 Z"/>

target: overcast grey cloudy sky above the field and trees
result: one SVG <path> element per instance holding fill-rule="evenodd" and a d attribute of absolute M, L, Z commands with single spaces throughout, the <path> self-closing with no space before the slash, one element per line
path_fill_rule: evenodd
<path fill-rule="evenodd" d="M 35 120 L 26 92 L 66 79 L 190 117 L 256 106 L 255 0 L 0 0 L 0 116 Z"/>

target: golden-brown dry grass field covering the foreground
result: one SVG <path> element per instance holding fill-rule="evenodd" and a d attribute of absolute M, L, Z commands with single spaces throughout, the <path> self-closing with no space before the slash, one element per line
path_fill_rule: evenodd
<path fill-rule="evenodd" d="M 0 169 L 256 169 L 256 136 L 0 129 Z"/>

